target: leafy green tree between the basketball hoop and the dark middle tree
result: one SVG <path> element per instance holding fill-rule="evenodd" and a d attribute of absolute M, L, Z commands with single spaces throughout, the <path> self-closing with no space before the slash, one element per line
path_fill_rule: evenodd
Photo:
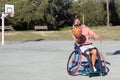
<path fill-rule="evenodd" d="M 9 0 L 15 5 L 15 17 L 11 20 L 15 29 L 31 29 L 33 25 L 43 24 L 47 0 Z M 8 20 L 10 20 L 8 18 Z"/>

